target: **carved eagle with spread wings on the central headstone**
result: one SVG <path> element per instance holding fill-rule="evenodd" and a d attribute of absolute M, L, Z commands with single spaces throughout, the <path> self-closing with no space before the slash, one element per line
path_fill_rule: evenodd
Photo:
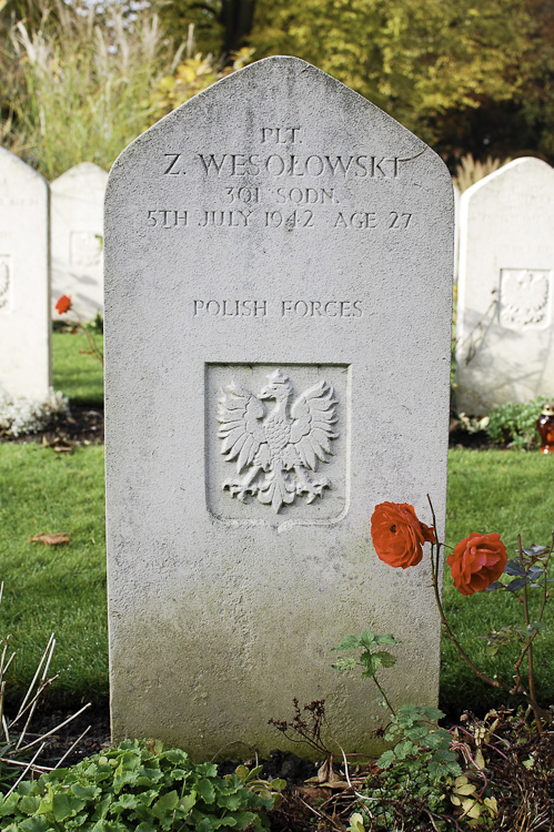
<path fill-rule="evenodd" d="M 236 463 L 236 476 L 225 479 L 223 489 L 242 503 L 251 494 L 275 514 L 296 495 L 312 503 L 331 488 L 326 477 L 313 473 L 320 461 L 329 461 L 331 443 L 339 436 L 331 385 L 322 381 L 291 404 L 292 397 L 289 376 L 276 369 L 258 396 L 233 382 L 218 402 L 221 453 Z M 263 402 L 271 400 L 274 406 L 266 408 Z"/>

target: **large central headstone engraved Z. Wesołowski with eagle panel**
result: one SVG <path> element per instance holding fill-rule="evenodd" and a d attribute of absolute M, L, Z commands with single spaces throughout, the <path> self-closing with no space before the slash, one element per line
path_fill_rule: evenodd
<path fill-rule="evenodd" d="M 393 701 L 437 697 L 429 570 L 379 561 L 370 517 L 429 521 L 427 491 L 444 517 L 449 172 L 274 57 L 131 144 L 105 210 L 114 738 L 268 754 L 289 748 L 271 717 L 326 698 L 367 748 L 385 717 L 330 668 L 344 636 L 394 632 Z"/>

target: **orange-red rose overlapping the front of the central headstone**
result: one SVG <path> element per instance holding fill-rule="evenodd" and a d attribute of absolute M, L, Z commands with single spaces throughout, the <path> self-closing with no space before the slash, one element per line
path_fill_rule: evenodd
<path fill-rule="evenodd" d="M 371 539 L 377 558 L 389 566 L 417 566 L 423 544 L 436 544 L 435 532 L 421 522 L 406 503 L 381 503 L 371 518 Z"/>

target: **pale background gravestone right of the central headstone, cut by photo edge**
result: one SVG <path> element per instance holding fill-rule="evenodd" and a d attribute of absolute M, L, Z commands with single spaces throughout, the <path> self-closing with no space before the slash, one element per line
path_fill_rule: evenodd
<path fill-rule="evenodd" d="M 554 395 L 554 170 L 516 159 L 462 194 L 456 406 Z"/>

